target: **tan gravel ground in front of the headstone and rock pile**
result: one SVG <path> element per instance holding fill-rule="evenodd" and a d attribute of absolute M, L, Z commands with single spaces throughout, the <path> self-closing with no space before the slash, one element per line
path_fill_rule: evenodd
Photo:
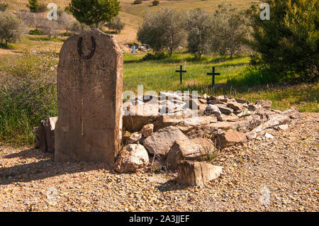
<path fill-rule="evenodd" d="M 274 139 L 225 149 L 222 176 L 201 188 L 179 186 L 177 174 L 116 174 L 0 147 L 0 211 L 318 211 L 318 133 L 319 113 L 301 113 Z"/>

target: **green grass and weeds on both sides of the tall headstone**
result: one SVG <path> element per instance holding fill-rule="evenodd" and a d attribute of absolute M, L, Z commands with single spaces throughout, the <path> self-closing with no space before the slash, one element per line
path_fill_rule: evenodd
<path fill-rule="evenodd" d="M 299 111 L 319 112 L 318 84 L 272 84 L 269 75 L 248 70 L 249 57 L 203 57 L 196 60 L 187 52 L 171 58 L 141 61 L 145 53 L 124 54 L 123 90 L 198 91 L 199 94 L 227 95 L 254 102 L 269 99 L 275 109 L 296 106 Z M 57 55 L 0 55 L 0 142 L 33 145 L 33 128 L 44 118 L 57 115 L 56 86 L 53 81 Z M 183 84 L 175 72 L 182 64 L 187 73 Z M 211 67 L 216 67 L 216 84 L 211 86 Z M 6 79 L 4 74 L 10 74 Z M 50 76 L 49 76 L 50 75 Z M 49 77 L 48 77 L 49 76 Z M 4 78 L 4 79 L 3 79 Z M 18 80 L 15 80 L 18 79 Z M 11 89 L 10 87 L 14 87 Z"/>

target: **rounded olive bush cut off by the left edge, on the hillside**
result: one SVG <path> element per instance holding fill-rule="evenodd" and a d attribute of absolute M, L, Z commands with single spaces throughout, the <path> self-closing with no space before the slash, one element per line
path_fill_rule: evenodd
<path fill-rule="evenodd" d="M 23 33 L 25 33 L 26 27 L 19 18 L 11 13 L 0 13 L 0 43 L 3 40 L 8 43 L 15 43 L 17 40 L 21 40 Z"/>

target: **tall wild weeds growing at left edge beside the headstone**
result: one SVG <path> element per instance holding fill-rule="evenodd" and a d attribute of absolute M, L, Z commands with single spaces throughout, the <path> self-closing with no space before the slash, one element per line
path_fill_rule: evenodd
<path fill-rule="evenodd" d="M 32 145 L 33 128 L 57 115 L 56 66 L 56 55 L 29 52 L 0 65 L 1 142 Z"/>

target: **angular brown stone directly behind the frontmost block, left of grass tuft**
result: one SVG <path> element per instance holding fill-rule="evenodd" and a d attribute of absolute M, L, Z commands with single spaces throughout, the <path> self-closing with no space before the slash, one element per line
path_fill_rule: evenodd
<path fill-rule="evenodd" d="M 214 143 L 206 138 L 177 140 L 167 154 L 167 167 L 169 170 L 176 170 L 178 164 L 184 160 L 201 161 L 214 149 Z"/>

